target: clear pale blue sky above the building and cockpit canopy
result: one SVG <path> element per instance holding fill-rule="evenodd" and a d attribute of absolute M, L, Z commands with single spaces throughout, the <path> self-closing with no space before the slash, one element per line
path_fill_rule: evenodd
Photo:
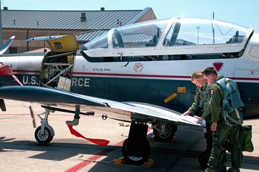
<path fill-rule="evenodd" d="M 1 0 L 8 10 L 143 10 L 153 9 L 157 19 L 204 17 L 225 20 L 259 33 L 259 0 Z"/>

